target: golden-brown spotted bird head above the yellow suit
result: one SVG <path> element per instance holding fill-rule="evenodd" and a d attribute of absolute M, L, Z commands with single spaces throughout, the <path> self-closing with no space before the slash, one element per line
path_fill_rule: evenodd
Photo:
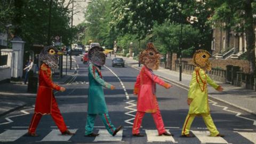
<path fill-rule="evenodd" d="M 212 65 L 209 61 L 211 54 L 205 50 L 197 50 L 193 55 L 193 62 L 196 67 L 210 71 Z"/>

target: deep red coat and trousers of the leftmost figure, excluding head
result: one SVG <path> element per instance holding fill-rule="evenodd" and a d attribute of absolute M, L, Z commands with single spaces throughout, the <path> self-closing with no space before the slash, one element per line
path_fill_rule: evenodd
<path fill-rule="evenodd" d="M 50 114 L 59 127 L 60 132 L 65 132 L 67 126 L 63 120 L 53 90 L 60 90 L 60 86 L 54 84 L 51 78 L 51 68 L 43 63 L 39 69 L 39 87 L 36 97 L 35 113 L 28 129 L 29 133 L 35 133 L 36 127 L 43 115 Z"/>

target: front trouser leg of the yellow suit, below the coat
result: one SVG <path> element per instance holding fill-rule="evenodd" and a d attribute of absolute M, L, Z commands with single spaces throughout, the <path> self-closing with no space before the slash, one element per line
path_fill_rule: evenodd
<path fill-rule="evenodd" d="M 208 130 L 211 133 L 211 136 L 216 136 L 219 134 L 219 131 L 217 130 L 216 126 L 213 123 L 211 114 L 204 114 L 202 115 L 203 119 L 204 119 L 204 123 L 207 126 Z"/>

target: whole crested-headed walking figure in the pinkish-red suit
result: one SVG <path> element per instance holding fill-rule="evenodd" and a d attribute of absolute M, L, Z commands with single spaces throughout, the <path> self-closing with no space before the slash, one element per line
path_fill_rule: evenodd
<path fill-rule="evenodd" d="M 146 113 L 151 113 L 154 118 L 158 135 L 172 136 L 173 134 L 166 132 L 162 115 L 160 113 L 156 99 L 156 83 L 164 86 L 166 89 L 171 87 L 161 78 L 154 75 L 152 70 L 157 70 L 159 67 L 159 58 L 156 48 L 153 43 L 147 44 L 147 49 L 140 53 L 139 61 L 144 65 L 140 74 L 137 76 L 137 81 L 134 85 L 133 93 L 138 94 L 137 113 L 133 122 L 132 135 L 135 137 L 143 137 L 140 134 L 140 125 L 142 118 Z"/>

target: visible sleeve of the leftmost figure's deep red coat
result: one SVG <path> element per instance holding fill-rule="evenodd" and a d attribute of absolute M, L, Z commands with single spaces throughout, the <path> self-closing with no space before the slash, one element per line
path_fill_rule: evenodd
<path fill-rule="evenodd" d="M 47 68 L 45 66 L 41 66 L 41 73 L 42 73 L 42 77 L 44 79 L 44 82 L 47 84 L 47 86 L 51 87 L 54 90 L 59 91 L 60 90 L 60 86 L 57 84 L 54 84 L 50 78 L 51 74 L 48 74 L 47 72 Z"/>

